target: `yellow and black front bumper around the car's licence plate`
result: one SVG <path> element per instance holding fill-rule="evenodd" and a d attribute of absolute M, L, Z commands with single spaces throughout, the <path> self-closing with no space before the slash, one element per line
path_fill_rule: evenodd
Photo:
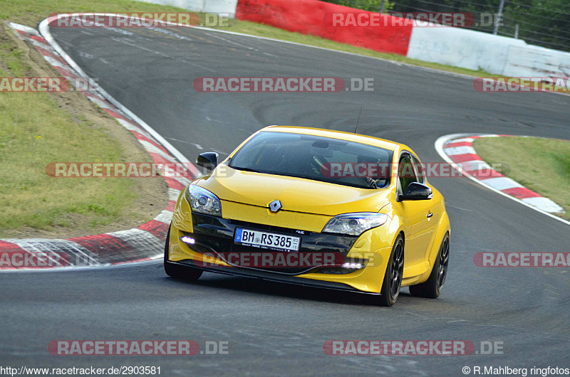
<path fill-rule="evenodd" d="M 344 257 L 351 258 L 350 260 L 366 260 L 367 264 L 366 267 L 358 270 L 348 270 L 341 267 L 318 266 L 304 268 L 240 267 L 229 265 L 223 258 L 212 262 L 212 257 L 210 257 L 212 254 L 260 251 L 234 243 L 236 228 L 295 235 L 301 238 L 299 252 L 341 253 Z M 181 238 L 185 236 L 192 238 L 192 243 L 182 241 Z M 249 223 L 243 220 L 193 213 L 181 195 L 177 201 L 170 228 L 168 260 L 177 265 L 226 275 L 378 294 L 390 258 L 392 243 L 387 226 L 368 230 L 359 237 L 299 231 L 268 223 Z"/>

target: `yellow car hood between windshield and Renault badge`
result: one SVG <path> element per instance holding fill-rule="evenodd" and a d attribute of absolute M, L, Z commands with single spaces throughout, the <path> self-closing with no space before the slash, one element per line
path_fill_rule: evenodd
<path fill-rule="evenodd" d="M 222 174 L 222 171 L 224 174 Z M 282 211 L 336 216 L 340 213 L 378 212 L 388 203 L 389 189 L 367 189 L 310 179 L 240 171 L 224 166 L 196 182 L 222 201 L 269 207 L 281 201 Z"/>

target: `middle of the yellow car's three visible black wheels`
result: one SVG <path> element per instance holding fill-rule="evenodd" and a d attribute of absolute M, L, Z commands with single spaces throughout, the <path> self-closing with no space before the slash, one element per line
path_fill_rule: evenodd
<path fill-rule="evenodd" d="M 404 239 L 402 235 L 398 235 L 390 253 L 390 260 L 386 266 L 384 280 L 382 282 L 382 290 L 378 297 L 378 304 L 383 307 L 391 307 L 395 304 L 400 295 L 402 287 L 402 275 L 404 272 Z"/>

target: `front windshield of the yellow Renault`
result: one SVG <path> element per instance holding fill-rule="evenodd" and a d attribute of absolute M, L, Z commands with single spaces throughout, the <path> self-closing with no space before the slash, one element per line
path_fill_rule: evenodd
<path fill-rule="evenodd" d="M 229 166 L 359 188 L 390 185 L 393 152 L 346 140 L 288 132 L 259 132 Z"/>

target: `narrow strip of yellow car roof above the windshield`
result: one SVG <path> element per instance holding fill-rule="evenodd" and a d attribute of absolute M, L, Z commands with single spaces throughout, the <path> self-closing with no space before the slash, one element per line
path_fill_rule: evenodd
<path fill-rule="evenodd" d="M 299 127 L 299 126 L 269 126 L 259 130 L 271 131 L 271 132 L 289 132 L 291 134 L 306 134 L 321 137 L 330 137 L 331 139 L 341 139 L 348 142 L 357 142 L 361 144 L 368 144 L 374 147 L 380 147 L 384 149 L 389 149 L 392 151 L 407 149 L 411 151 L 410 148 L 404 144 L 397 142 L 390 142 L 390 140 L 380 139 L 378 137 L 371 137 L 361 134 L 352 134 L 351 132 L 335 131 L 333 129 L 321 129 L 312 127 Z"/>

